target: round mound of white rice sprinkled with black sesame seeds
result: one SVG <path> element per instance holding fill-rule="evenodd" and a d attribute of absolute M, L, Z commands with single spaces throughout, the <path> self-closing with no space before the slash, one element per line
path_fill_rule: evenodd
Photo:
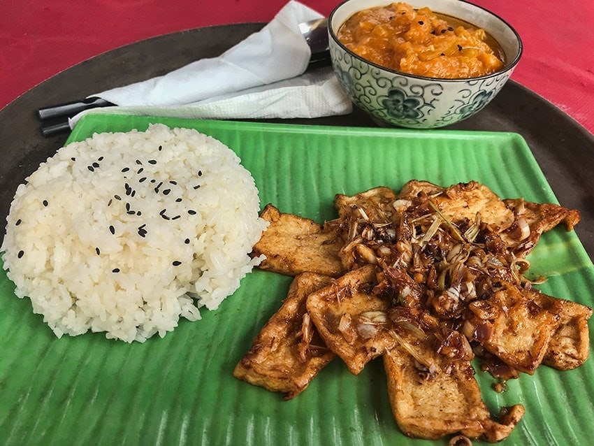
<path fill-rule="evenodd" d="M 17 188 L 0 251 L 15 294 L 56 336 L 163 337 L 215 310 L 259 264 L 252 175 L 191 129 L 94 134 Z"/>

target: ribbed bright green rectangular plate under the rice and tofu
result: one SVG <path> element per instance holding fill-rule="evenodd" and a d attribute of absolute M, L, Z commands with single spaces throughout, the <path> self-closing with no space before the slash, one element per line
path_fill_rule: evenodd
<path fill-rule="evenodd" d="M 412 178 L 441 185 L 477 180 L 502 197 L 556 198 L 517 134 L 315 127 L 117 115 L 87 115 L 68 141 L 96 131 L 191 127 L 223 141 L 252 172 L 262 206 L 319 222 L 333 196 Z M 24 180 L 24 178 L 23 178 Z M 557 228 L 530 255 L 540 287 L 593 304 L 594 267 L 576 234 Z M 55 338 L 28 299 L 0 274 L 2 445 L 435 445 L 403 436 L 393 419 L 382 361 L 358 376 L 333 361 L 297 398 L 231 375 L 252 338 L 280 306 L 291 278 L 254 271 L 217 311 L 185 319 L 165 338 L 126 344 L 102 333 Z M 591 329 L 592 333 L 592 329 Z M 488 408 L 521 403 L 526 415 L 506 445 L 579 445 L 594 438 L 594 362 L 574 371 L 546 366 L 491 389 Z M 480 442 L 475 442 L 480 444 Z"/>

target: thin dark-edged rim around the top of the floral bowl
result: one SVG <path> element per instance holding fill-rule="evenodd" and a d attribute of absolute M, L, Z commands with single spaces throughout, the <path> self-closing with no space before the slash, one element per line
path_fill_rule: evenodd
<path fill-rule="evenodd" d="M 394 70 L 394 69 L 388 68 L 386 66 L 376 64 L 375 62 L 371 62 L 370 60 L 365 59 L 365 58 L 357 55 L 352 50 L 349 50 L 349 48 L 347 48 L 338 39 L 338 36 L 336 36 L 336 33 L 335 33 L 335 31 L 334 31 L 334 29 L 332 27 L 332 18 L 335 15 L 335 13 L 337 13 L 337 11 L 345 3 L 349 3 L 350 1 L 353 1 L 353 0 L 343 0 L 343 1 L 341 1 L 340 3 L 338 3 L 338 5 L 336 5 L 333 8 L 333 10 L 331 10 L 331 13 L 328 15 L 328 34 L 331 37 L 331 41 L 333 41 L 334 43 L 338 44 L 340 46 L 340 48 L 342 48 L 342 50 L 344 50 L 345 52 L 348 52 L 349 55 L 352 55 L 352 57 L 355 57 L 356 59 L 360 60 L 361 62 L 365 62 L 365 64 L 370 64 L 372 66 L 375 66 L 378 69 L 382 69 L 384 71 L 388 71 L 389 73 L 403 75 L 403 76 L 407 76 L 407 77 L 415 78 L 415 79 L 431 80 L 433 82 L 435 82 L 435 81 L 437 81 L 437 82 L 460 82 L 460 81 L 483 80 L 483 79 L 493 78 L 493 77 L 495 77 L 497 75 L 501 75 L 501 74 L 507 73 L 507 72 L 511 71 L 512 69 L 514 69 L 515 66 L 518 64 L 518 62 L 520 62 L 520 59 L 521 59 L 521 56 L 522 56 L 522 53 L 523 53 L 523 43 L 522 43 L 522 39 L 520 37 L 520 34 L 518 33 L 518 31 L 516 31 L 516 29 L 514 27 L 512 27 L 511 24 L 509 24 L 509 22 L 507 22 L 507 20 L 505 20 L 502 17 L 500 17 L 499 15 L 493 13 L 493 11 L 491 11 L 491 10 L 488 10 L 488 9 L 482 7 L 482 6 L 479 6 L 479 5 L 475 5 L 475 3 L 470 3 L 470 1 L 457 0 L 457 1 L 460 1 L 462 3 L 467 3 L 468 5 L 470 5 L 473 8 L 484 10 L 484 12 L 486 12 L 487 14 L 492 15 L 493 17 L 495 17 L 498 20 L 500 20 L 502 22 L 502 24 L 505 24 L 505 26 L 508 27 L 510 31 L 512 31 L 512 33 L 516 37 L 516 40 L 518 41 L 518 53 L 516 54 L 516 57 L 514 57 L 514 59 L 512 60 L 512 62 L 509 62 L 509 64 L 505 64 L 505 66 L 502 69 L 498 70 L 498 71 L 494 71 L 493 73 L 490 73 L 490 74 L 476 76 L 474 78 L 431 78 L 429 76 L 423 76 L 423 75 L 418 75 L 418 74 L 411 74 L 411 73 L 407 73 L 405 71 Z M 389 5 L 389 4 L 391 4 L 391 3 L 398 3 L 398 1 L 403 1 L 404 3 L 406 2 L 406 0 L 386 1 L 386 6 Z M 375 6 L 370 6 L 370 8 L 374 8 L 374 7 Z M 363 8 L 363 9 L 367 9 L 367 8 Z M 361 10 L 363 10 L 363 9 L 361 9 Z M 459 17 L 456 17 L 456 18 L 459 18 Z M 461 20 L 465 20 L 465 19 L 461 19 Z"/>

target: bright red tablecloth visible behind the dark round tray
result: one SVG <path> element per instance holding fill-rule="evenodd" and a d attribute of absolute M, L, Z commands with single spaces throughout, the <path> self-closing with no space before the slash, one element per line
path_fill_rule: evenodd
<path fill-rule="evenodd" d="M 302 0 L 324 15 L 339 1 Z M 101 52 L 183 29 L 268 21 L 286 2 L 1 1 L 0 108 L 51 75 Z M 594 132 L 594 2 L 472 3 L 497 13 L 521 35 L 523 58 L 512 78 Z"/>

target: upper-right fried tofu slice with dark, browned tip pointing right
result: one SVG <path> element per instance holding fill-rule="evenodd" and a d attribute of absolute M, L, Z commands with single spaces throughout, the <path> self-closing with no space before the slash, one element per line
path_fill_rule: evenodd
<path fill-rule="evenodd" d="M 501 236 L 518 257 L 526 257 L 542 233 L 561 223 L 565 223 L 567 231 L 572 231 L 581 218 L 578 210 L 553 203 L 533 203 L 523 199 L 506 199 L 504 203 L 514 213 L 514 224 Z"/>

